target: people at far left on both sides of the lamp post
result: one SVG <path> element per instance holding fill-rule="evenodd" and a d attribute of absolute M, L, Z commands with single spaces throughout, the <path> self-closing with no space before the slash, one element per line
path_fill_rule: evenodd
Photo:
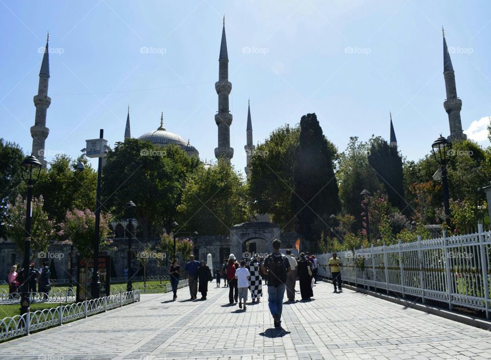
<path fill-rule="evenodd" d="M 46 263 L 41 263 L 40 268 L 36 268 L 35 263 L 29 265 L 28 284 L 29 292 L 42 293 L 43 299 L 48 299 L 48 293 L 51 290 L 50 268 Z M 19 264 L 12 265 L 7 276 L 9 283 L 9 298 L 13 299 L 15 294 L 22 291 L 21 286 L 24 284 L 24 268 Z"/>

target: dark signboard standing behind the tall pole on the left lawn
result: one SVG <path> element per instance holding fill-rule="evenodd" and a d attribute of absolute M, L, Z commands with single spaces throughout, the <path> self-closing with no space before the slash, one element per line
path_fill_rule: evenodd
<path fill-rule="evenodd" d="M 99 281 L 101 282 L 101 297 L 108 296 L 111 290 L 111 257 L 99 255 Z M 77 302 L 90 300 L 92 274 L 94 273 L 93 259 L 77 259 Z"/>

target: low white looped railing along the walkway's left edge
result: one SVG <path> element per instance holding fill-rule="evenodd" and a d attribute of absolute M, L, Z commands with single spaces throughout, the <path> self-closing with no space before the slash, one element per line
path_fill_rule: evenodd
<path fill-rule="evenodd" d="M 27 312 L 24 315 L 5 317 L 0 321 L 0 342 L 11 338 L 29 335 L 32 331 L 47 329 L 53 326 L 81 319 L 99 312 L 122 307 L 123 305 L 140 301 L 140 290 L 120 292 L 81 303 L 60 305 L 51 309 Z"/>

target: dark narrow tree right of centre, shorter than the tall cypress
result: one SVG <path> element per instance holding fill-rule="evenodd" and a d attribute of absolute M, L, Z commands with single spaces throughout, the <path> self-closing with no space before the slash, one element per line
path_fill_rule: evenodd
<path fill-rule="evenodd" d="M 400 211 L 407 208 L 404 197 L 403 160 L 397 147 L 380 136 L 370 139 L 368 164 L 377 174 L 378 180 L 384 185 L 387 197 L 392 206 Z"/>

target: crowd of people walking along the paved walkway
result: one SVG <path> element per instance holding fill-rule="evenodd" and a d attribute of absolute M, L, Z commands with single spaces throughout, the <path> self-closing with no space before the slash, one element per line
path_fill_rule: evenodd
<path fill-rule="evenodd" d="M 296 280 L 300 283 L 300 295 L 302 300 L 309 301 L 314 297 L 314 285 L 317 283 L 319 262 L 309 253 L 301 252 L 298 258 L 291 250 L 286 250 L 286 255 L 280 252 L 281 241 L 273 240 L 273 252 L 265 259 L 253 256 L 249 262 L 237 261 L 233 254 L 224 259 L 221 269 L 216 269 L 216 287 L 220 287 L 220 279 L 224 278 L 224 287 L 229 287 L 229 303 L 238 303 L 239 308 L 247 309 L 248 293 L 251 293 L 252 303 L 259 302 L 262 296 L 262 280 L 267 285 L 268 306 L 273 316 L 275 327 L 281 326 L 281 314 L 283 298 L 286 292 L 288 301 L 295 301 Z M 341 285 L 341 260 L 333 253 L 328 266 L 331 270 L 334 292 L 342 291 Z M 181 267 L 177 259 L 172 261 L 169 267 L 174 301 L 177 299 L 177 284 L 181 276 Z M 194 256 L 186 263 L 184 277 L 188 279 L 190 300 L 197 299 L 197 291 L 202 294 L 201 299 L 206 300 L 208 282 L 213 277 L 210 268 L 204 261 L 196 261 Z M 199 287 L 198 287 L 199 283 Z"/>

